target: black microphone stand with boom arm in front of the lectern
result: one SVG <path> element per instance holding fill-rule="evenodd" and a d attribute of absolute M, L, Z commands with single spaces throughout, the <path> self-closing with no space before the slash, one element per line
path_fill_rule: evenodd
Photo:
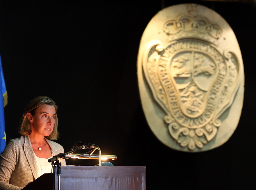
<path fill-rule="evenodd" d="M 67 155 L 77 151 L 77 150 L 80 150 L 80 149 L 84 149 L 84 146 L 80 147 L 80 148 L 73 148 L 73 150 L 67 152 L 67 153 L 59 153 L 55 156 L 53 156 L 52 158 L 50 158 L 48 160 L 48 162 L 51 162 L 51 165 L 54 166 L 53 167 L 53 172 L 54 172 L 54 175 L 55 176 L 55 168 L 57 166 L 57 176 L 58 176 L 58 190 L 60 190 L 60 176 L 61 176 L 61 162 L 59 162 L 62 158 L 66 158 Z M 54 163 L 54 161 L 56 161 Z M 54 177 L 54 184 L 55 184 L 55 177 Z M 54 187 L 55 189 L 55 187 Z"/>

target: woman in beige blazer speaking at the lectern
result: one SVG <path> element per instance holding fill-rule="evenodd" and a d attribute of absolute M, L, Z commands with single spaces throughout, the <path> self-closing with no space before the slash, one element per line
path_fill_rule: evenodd
<path fill-rule="evenodd" d="M 0 154 L 0 190 L 18 190 L 44 173 L 51 173 L 48 159 L 64 153 L 57 140 L 57 105 L 38 96 L 26 106 L 19 128 L 20 137 L 11 139 Z M 61 161 L 66 165 L 65 159 Z M 47 182 L 46 182 L 47 183 Z"/>

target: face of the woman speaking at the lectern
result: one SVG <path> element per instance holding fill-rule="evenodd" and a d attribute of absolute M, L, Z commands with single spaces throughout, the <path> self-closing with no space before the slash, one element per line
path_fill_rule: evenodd
<path fill-rule="evenodd" d="M 33 135 L 49 136 L 55 124 L 55 107 L 43 104 L 36 109 L 34 116 L 28 117 Z M 31 133 L 31 134 L 32 134 Z"/>

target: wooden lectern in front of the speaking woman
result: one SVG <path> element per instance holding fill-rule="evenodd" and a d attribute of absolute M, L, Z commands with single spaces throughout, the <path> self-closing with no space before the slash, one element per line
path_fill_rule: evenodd
<path fill-rule="evenodd" d="M 146 190 L 145 166 L 61 166 L 59 178 L 55 167 L 23 190 Z"/>

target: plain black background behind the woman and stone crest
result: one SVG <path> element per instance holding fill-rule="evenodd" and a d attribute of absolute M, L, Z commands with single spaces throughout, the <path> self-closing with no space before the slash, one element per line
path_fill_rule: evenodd
<path fill-rule="evenodd" d="M 215 10 L 229 23 L 245 69 L 236 131 L 222 146 L 201 153 L 172 150 L 154 136 L 137 81 L 137 54 L 146 25 L 162 8 L 188 2 Z M 59 106 L 57 142 L 66 152 L 80 140 L 98 144 L 102 154 L 117 155 L 110 161 L 115 166 L 146 166 L 148 190 L 255 189 L 255 7 L 255 1 L 1 0 L 7 142 L 19 136 L 28 101 L 46 95 Z M 68 165 L 97 163 L 67 160 Z"/>

